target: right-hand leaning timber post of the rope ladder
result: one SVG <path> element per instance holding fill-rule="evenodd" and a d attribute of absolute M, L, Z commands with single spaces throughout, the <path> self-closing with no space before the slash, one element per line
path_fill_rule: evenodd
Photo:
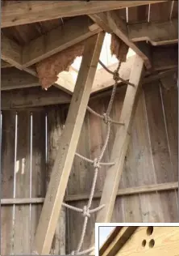
<path fill-rule="evenodd" d="M 123 102 L 123 109 L 119 122 L 124 123 L 124 126 L 119 126 L 114 139 L 114 146 L 110 156 L 110 162 L 115 164 L 108 169 L 104 188 L 102 190 L 102 198 L 100 205 L 105 204 L 105 207 L 98 211 L 97 223 L 110 222 L 114 209 L 114 202 L 118 193 L 119 181 L 123 172 L 123 164 L 127 153 L 127 146 L 130 138 L 129 130 L 131 120 L 134 115 L 136 105 L 136 95 L 139 92 L 139 84 L 141 75 L 144 69 L 144 61 L 138 55 L 135 56 L 135 61 L 131 70 L 129 81 L 135 84 L 135 87 L 128 85 L 126 96 Z M 92 237 L 94 245 L 94 235 Z M 92 253 L 92 255 L 94 252 Z"/>

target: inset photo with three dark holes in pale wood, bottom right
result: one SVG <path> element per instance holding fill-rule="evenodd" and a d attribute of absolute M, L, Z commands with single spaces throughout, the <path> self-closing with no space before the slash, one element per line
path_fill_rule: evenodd
<path fill-rule="evenodd" d="M 98 256 L 179 256 L 179 226 L 98 226 Z"/>

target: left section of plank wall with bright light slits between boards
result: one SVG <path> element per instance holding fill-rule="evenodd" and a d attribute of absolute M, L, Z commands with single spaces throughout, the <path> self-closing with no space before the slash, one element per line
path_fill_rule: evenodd
<path fill-rule="evenodd" d="M 45 196 L 45 113 L 2 112 L 2 198 Z M 30 254 L 42 205 L 1 207 L 1 254 Z"/>

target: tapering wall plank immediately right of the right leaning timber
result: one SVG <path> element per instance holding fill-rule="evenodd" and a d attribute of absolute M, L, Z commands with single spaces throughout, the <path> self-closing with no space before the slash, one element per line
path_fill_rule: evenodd
<path fill-rule="evenodd" d="M 145 110 L 144 92 L 140 92 L 138 105 L 135 111 L 135 119 L 131 130 L 131 143 L 129 145 L 129 170 L 126 170 L 126 177 L 131 181 L 132 186 L 144 186 L 156 183 L 154 168 L 152 164 L 152 153 L 148 137 L 148 122 Z M 128 173 L 128 174 L 127 174 Z M 127 187 L 127 186 L 126 186 Z M 160 222 L 160 198 L 156 193 L 139 194 L 139 222 Z M 132 199 L 133 197 L 131 197 Z M 139 220 L 139 213 L 135 211 L 135 203 L 131 203 L 131 211 Z M 126 220 L 127 221 L 127 220 Z M 138 222 L 135 219 L 135 222 Z"/>

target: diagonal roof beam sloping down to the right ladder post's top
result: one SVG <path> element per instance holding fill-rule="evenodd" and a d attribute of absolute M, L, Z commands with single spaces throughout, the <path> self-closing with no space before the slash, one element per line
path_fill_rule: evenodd
<path fill-rule="evenodd" d="M 147 69 L 152 67 L 149 59 L 150 56 L 146 54 L 146 50 L 139 49 L 139 47 L 131 41 L 131 39 L 128 37 L 127 23 L 125 23 L 119 17 L 116 11 L 107 11 L 106 13 L 90 15 L 90 18 L 93 19 L 95 23 L 98 23 L 98 25 L 106 32 L 114 33 L 121 40 L 123 40 L 126 45 L 133 49 L 135 53 L 137 53 L 140 58 L 144 60 L 144 64 Z M 146 47 L 149 46 L 146 44 Z"/>

